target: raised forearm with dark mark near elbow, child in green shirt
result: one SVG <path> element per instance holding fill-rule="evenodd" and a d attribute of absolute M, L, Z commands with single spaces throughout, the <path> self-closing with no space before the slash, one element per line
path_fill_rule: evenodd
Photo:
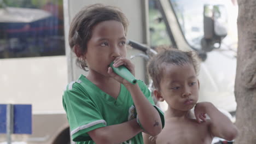
<path fill-rule="evenodd" d="M 127 89 L 131 93 L 139 122 L 144 130 L 146 130 L 145 132 L 153 136 L 158 135 L 162 130 L 161 118 L 158 111 L 149 103 L 138 85 L 133 85 Z"/>

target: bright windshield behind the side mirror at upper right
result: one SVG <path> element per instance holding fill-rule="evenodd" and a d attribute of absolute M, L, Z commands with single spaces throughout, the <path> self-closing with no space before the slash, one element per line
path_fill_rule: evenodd
<path fill-rule="evenodd" d="M 188 44 L 195 49 L 201 49 L 201 39 L 203 38 L 203 5 L 223 4 L 228 17 L 228 36 L 223 40 L 225 45 L 236 47 L 237 44 L 237 5 L 229 1 L 222 0 L 170 0 L 174 13 Z"/>

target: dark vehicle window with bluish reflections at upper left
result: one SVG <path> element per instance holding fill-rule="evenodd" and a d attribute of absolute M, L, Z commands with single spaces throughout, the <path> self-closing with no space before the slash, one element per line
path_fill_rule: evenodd
<path fill-rule="evenodd" d="M 0 58 L 65 55 L 62 1 L 0 2 Z"/>

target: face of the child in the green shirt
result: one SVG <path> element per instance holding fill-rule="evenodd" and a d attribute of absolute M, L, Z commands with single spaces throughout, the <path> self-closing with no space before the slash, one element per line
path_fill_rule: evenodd
<path fill-rule="evenodd" d="M 109 64 L 115 58 L 126 57 L 126 37 L 121 22 L 109 20 L 98 23 L 92 29 L 85 60 L 90 73 L 108 76 Z"/>

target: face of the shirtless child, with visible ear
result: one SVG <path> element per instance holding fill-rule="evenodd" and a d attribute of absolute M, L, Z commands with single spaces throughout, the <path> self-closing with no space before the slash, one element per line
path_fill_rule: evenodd
<path fill-rule="evenodd" d="M 160 91 L 155 97 L 165 100 L 169 109 L 188 111 L 197 103 L 199 95 L 199 81 L 192 64 L 182 66 L 163 64 Z"/>

